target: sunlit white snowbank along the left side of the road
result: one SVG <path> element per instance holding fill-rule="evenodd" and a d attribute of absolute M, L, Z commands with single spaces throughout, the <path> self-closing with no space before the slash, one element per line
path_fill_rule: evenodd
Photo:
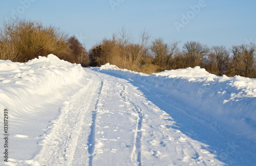
<path fill-rule="evenodd" d="M 53 54 L 27 63 L 0 60 L 0 121 L 3 127 L 8 110 L 9 161 L 31 159 L 39 152 L 38 142 L 50 131 L 63 102 L 81 88 L 83 73 L 80 65 Z"/>

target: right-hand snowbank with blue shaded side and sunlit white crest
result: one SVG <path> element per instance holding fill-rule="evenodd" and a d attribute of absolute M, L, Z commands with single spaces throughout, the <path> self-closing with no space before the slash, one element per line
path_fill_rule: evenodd
<path fill-rule="evenodd" d="M 256 80 L 241 76 L 218 77 L 199 66 L 151 75 L 103 65 L 96 70 L 175 96 L 194 113 L 226 125 L 238 135 L 256 140 Z M 197 111 L 197 112 L 196 112 Z"/>

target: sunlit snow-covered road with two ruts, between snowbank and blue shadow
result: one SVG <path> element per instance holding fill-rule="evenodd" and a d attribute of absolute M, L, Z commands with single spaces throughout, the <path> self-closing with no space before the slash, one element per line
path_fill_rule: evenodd
<path fill-rule="evenodd" d="M 91 78 L 61 109 L 39 165 L 222 164 L 127 80 L 85 70 Z"/>

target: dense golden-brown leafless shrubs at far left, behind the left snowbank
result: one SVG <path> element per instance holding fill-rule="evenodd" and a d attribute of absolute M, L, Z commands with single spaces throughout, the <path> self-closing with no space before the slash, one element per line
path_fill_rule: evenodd
<path fill-rule="evenodd" d="M 66 42 L 67 35 L 54 26 L 43 26 L 39 21 L 9 19 L 1 28 L 1 59 L 18 62 L 58 53 Z"/>

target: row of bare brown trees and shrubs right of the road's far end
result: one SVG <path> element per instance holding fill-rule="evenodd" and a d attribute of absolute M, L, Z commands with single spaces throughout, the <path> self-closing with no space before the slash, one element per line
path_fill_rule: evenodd
<path fill-rule="evenodd" d="M 222 76 L 240 75 L 256 77 L 255 43 L 225 46 L 201 44 L 187 41 L 180 48 L 180 41 L 165 43 L 162 38 L 150 41 L 150 34 L 143 31 L 140 42 L 134 43 L 124 28 L 113 34 L 111 39 L 103 39 L 89 50 L 91 66 L 107 62 L 133 71 L 151 74 L 171 69 L 200 66 L 206 71 Z"/>

